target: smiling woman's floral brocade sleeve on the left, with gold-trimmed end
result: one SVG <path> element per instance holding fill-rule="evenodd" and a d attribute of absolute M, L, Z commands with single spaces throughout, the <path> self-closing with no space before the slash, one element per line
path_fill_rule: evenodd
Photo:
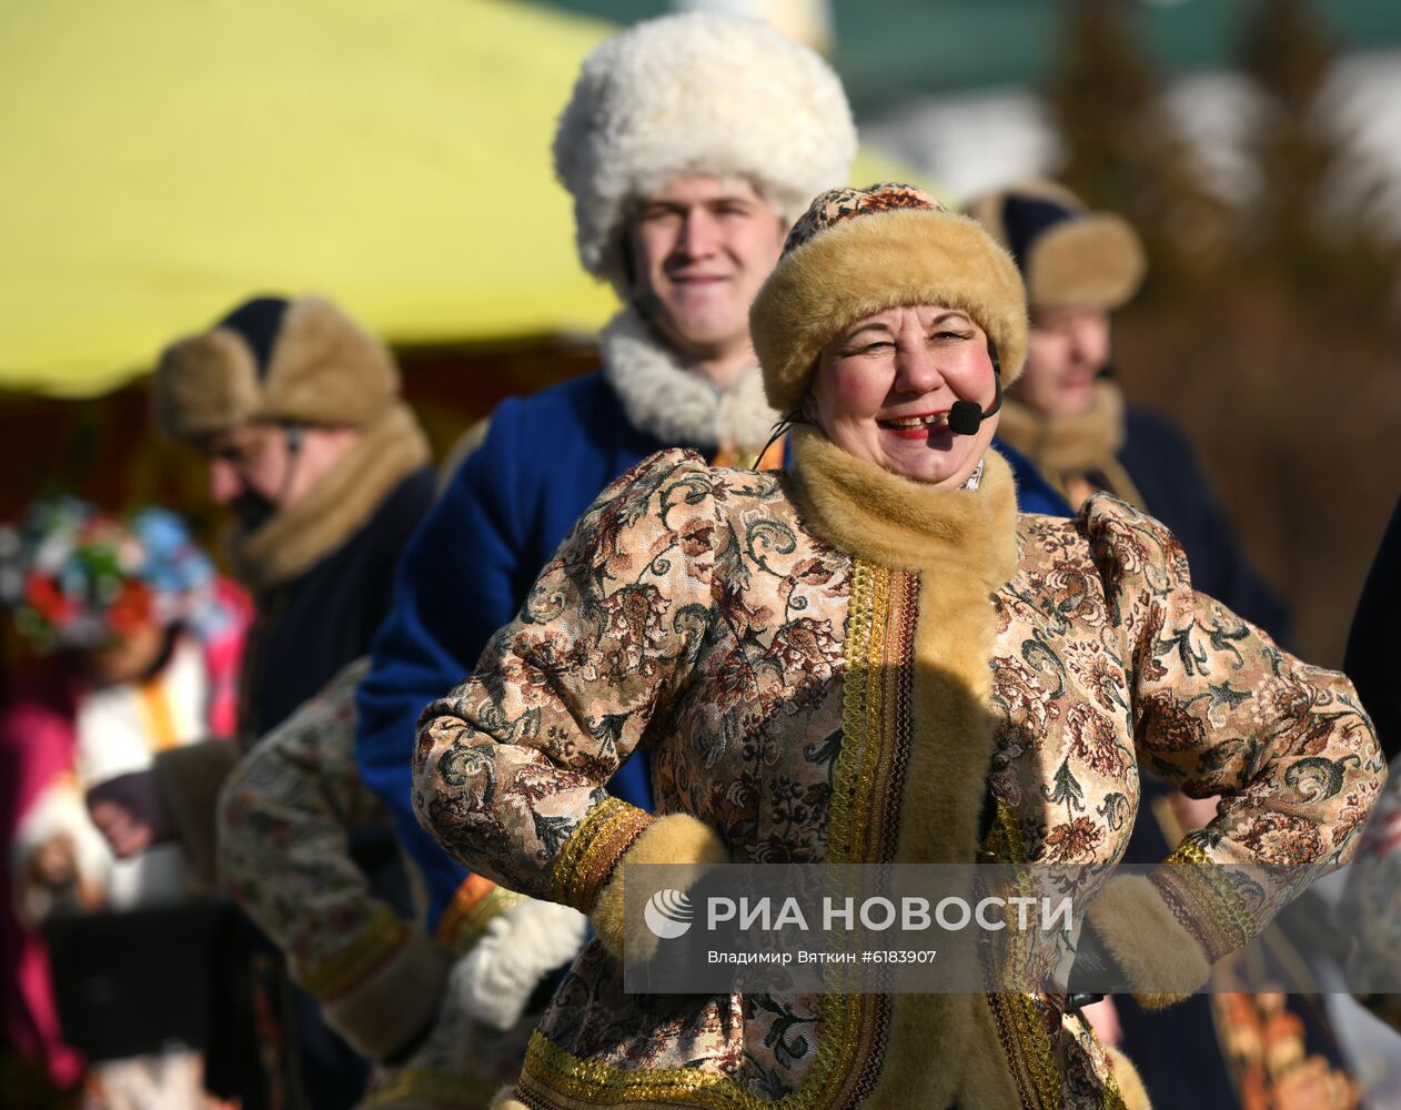
<path fill-rule="evenodd" d="M 722 496 L 693 453 L 639 463 L 580 517 L 474 674 L 423 711 L 413 802 L 454 858 L 593 908 L 654 820 L 604 783 L 689 678 L 715 607 Z"/>

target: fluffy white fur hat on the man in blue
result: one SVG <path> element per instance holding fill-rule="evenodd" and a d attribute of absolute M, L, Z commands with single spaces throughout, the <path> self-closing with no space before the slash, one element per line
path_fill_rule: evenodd
<path fill-rule="evenodd" d="M 555 133 L 579 259 L 626 299 L 628 205 L 682 174 L 744 177 L 792 223 L 845 185 L 856 125 L 817 53 L 769 24 L 695 11 L 649 20 L 584 59 Z"/>

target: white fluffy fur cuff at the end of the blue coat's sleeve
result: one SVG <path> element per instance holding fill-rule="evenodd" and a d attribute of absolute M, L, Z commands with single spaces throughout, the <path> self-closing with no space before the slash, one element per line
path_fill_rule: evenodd
<path fill-rule="evenodd" d="M 528 898 L 495 918 L 453 968 L 454 996 L 469 1018 L 511 1029 L 544 978 L 579 954 L 586 932 L 587 921 L 577 910 Z"/>

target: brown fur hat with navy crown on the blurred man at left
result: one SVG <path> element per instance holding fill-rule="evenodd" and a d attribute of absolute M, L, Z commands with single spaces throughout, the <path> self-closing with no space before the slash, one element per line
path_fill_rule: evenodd
<path fill-rule="evenodd" d="M 359 427 L 398 394 L 388 349 L 319 297 L 245 301 L 171 343 L 151 383 L 156 423 L 178 440 L 249 420 Z"/>

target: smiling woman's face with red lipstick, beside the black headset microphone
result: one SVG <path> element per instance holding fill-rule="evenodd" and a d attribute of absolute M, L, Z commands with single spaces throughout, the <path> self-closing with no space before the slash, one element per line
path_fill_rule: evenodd
<path fill-rule="evenodd" d="M 887 308 L 841 331 L 818 359 L 804 415 L 855 458 L 954 489 L 976 470 L 998 427 L 948 429 L 955 401 L 986 409 L 996 395 L 988 336 L 939 304 Z"/>

